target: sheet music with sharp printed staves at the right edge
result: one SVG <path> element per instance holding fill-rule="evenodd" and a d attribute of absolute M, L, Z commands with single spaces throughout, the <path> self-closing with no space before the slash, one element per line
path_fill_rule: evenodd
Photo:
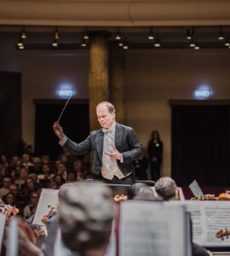
<path fill-rule="evenodd" d="M 204 247 L 230 247 L 229 239 L 216 237 L 220 230 L 230 231 L 230 203 L 227 201 L 170 202 L 184 204 L 191 212 L 193 242 Z"/>

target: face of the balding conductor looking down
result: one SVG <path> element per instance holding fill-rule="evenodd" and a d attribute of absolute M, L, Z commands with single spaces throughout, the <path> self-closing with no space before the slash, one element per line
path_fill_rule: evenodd
<path fill-rule="evenodd" d="M 106 105 L 101 104 L 96 108 L 97 119 L 102 128 L 109 129 L 115 119 L 115 113 L 109 113 Z"/>

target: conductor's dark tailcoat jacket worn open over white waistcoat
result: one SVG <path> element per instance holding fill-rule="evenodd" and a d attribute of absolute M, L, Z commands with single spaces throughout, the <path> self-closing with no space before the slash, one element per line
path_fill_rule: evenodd
<path fill-rule="evenodd" d="M 93 152 L 92 174 L 96 178 L 101 177 L 102 153 L 104 132 L 102 129 L 91 131 L 82 143 L 74 143 L 67 138 L 63 147 L 72 154 L 86 154 Z M 116 123 L 115 147 L 123 155 L 124 162 L 118 160 L 118 167 L 124 176 L 134 171 L 132 161 L 137 160 L 143 154 L 143 146 L 137 137 L 135 130 L 131 127 Z"/>

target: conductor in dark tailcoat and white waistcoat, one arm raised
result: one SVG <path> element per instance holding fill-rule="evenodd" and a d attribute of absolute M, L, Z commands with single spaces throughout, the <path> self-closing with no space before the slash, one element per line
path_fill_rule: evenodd
<path fill-rule="evenodd" d="M 143 147 L 133 128 L 115 121 L 115 108 L 110 102 L 101 102 L 96 107 L 96 115 L 101 125 L 98 131 L 91 131 L 82 143 L 72 142 L 55 122 L 55 135 L 60 145 L 73 154 L 93 151 L 92 174 L 106 183 L 134 183 L 132 161 L 143 154 Z"/>

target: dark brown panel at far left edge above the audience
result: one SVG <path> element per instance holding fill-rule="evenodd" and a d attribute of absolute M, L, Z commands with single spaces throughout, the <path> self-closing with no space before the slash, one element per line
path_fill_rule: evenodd
<path fill-rule="evenodd" d="M 25 150 L 21 131 L 20 73 L 0 71 L 0 154 L 21 155 Z"/>

